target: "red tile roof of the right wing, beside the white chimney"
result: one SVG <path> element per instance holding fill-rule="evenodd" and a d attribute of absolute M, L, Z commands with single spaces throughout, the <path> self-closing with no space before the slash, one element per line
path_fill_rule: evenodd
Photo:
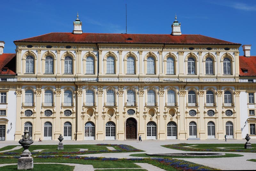
<path fill-rule="evenodd" d="M 244 70 L 248 70 L 248 73 L 244 73 Z M 256 56 L 239 56 L 239 75 L 256 76 Z"/>

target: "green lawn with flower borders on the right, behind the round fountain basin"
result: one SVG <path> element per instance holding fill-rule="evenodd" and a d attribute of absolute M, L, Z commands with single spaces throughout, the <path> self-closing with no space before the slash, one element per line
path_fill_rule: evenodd
<path fill-rule="evenodd" d="M 192 146 L 193 148 L 184 147 L 189 145 L 196 145 Z M 252 149 L 244 149 L 244 144 L 172 144 L 172 145 L 162 145 L 166 148 L 171 148 L 175 150 L 182 150 L 182 151 L 209 151 L 209 152 L 256 152 L 255 148 Z M 217 147 L 227 147 L 226 149 L 219 149 Z M 232 148 L 232 147 L 239 147 L 239 148 Z M 255 144 L 252 144 L 252 147 L 256 147 Z"/>

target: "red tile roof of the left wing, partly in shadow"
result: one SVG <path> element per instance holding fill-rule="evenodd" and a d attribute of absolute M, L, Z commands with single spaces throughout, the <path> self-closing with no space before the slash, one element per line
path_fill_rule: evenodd
<path fill-rule="evenodd" d="M 3 71 L 7 68 L 7 71 Z M 16 75 L 16 54 L 3 53 L 0 55 L 0 75 Z"/>

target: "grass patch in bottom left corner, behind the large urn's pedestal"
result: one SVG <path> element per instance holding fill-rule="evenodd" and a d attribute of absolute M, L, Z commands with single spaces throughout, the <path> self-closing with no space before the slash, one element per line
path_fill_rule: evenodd
<path fill-rule="evenodd" d="M 47 168 L 47 171 L 73 171 L 75 166 L 68 166 L 62 164 L 34 164 L 33 171 L 41 171 Z M 17 165 L 9 165 L 0 167 L 1 171 L 17 170 Z M 23 171 L 23 170 L 20 170 Z"/>

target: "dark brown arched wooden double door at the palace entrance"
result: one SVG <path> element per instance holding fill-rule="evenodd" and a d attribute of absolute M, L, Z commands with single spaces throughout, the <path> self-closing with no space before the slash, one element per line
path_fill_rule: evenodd
<path fill-rule="evenodd" d="M 126 139 L 137 139 L 137 121 L 128 118 L 125 123 Z"/>

